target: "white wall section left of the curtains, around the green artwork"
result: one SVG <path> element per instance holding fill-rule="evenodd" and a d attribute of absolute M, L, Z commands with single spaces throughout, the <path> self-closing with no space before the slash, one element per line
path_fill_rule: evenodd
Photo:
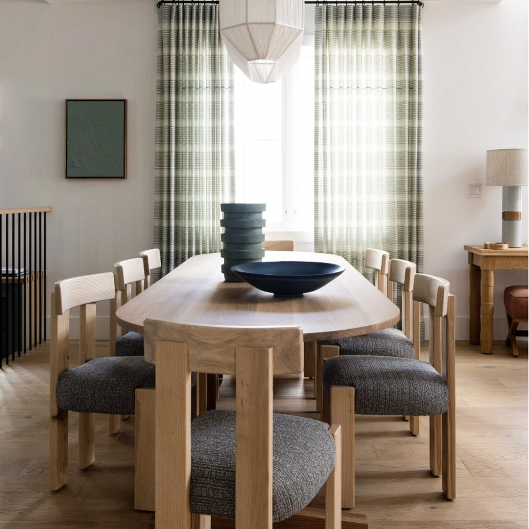
<path fill-rule="evenodd" d="M 152 248 L 157 11 L 0 2 L 0 208 L 53 208 L 49 292 Z M 126 180 L 65 179 L 64 106 L 74 98 L 127 99 Z"/>

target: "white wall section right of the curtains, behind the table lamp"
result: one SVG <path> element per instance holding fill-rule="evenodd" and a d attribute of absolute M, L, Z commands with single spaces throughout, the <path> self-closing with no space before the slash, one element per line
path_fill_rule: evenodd
<path fill-rule="evenodd" d="M 425 0 L 424 270 L 450 280 L 457 338 L 468 339 L 469 267 L 464 244 L 501 241 L 501 188 L 485 186 L 488 149 L 527 148 L 527 0 Z M 468 183 L 483 198 L 466 198 Z M 527 236 L 524 188 L 523 241 Z M 503 290 L 527 271 L 495 273 L 495 338 L 505 338 Z"/>

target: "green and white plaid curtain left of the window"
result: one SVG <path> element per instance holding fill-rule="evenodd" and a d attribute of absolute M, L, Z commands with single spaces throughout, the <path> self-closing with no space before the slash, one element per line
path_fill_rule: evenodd
<path fill-rule="evenodd" d="M 158 12 L 154 245 L 161 275 L 221 249 L 222 202 L 234 200 L 233 63 L 218 5 Z"/>

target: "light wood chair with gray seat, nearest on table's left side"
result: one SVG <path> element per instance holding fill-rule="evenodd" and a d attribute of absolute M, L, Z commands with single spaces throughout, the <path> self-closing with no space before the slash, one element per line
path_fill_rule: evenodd
<path fill-rule="evenodd" d="M 134 390 L 154 387 L 143 357 L 95 358 L 96 303 L 115 299 L 112 272 L 57 281 L 51 294 L 50 489 L 68 480 L 68 412 L 79 413 L 79 467 L 95 460 L 95 413 L 133 415 Z M 79 366 L 69 369 L 70 309 L 79 307 Z"/>

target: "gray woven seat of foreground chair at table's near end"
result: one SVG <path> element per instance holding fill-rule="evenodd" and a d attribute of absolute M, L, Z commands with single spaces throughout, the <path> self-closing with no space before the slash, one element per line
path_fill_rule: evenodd
<path fill-rule="evenodd" d="M 274 522 L 306 507 L 331 474 L 334 440 L 328 428 L 314 419 L 273 414 Z M 189 501 L 191 512 L 235 517 L 235 412 L 207 412 L 191 424 Z"/>

